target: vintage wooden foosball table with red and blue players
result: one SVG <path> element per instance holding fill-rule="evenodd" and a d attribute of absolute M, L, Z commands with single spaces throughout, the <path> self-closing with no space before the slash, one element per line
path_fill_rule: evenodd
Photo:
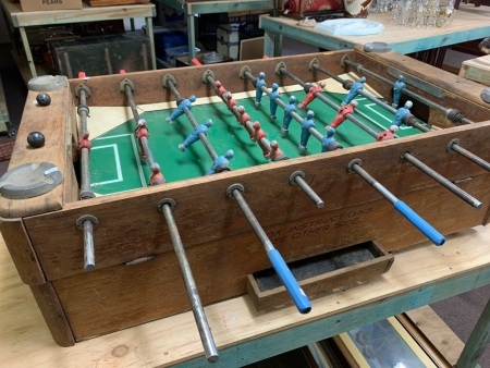
<path fill-rule="evenodd" d="M 391 252 L 488 223 L 481 91 L 360 48 L 38 77 L 0 230 L 59 345 L 192 309 L 216 361 L 203 305 L 307 314 Z"/>

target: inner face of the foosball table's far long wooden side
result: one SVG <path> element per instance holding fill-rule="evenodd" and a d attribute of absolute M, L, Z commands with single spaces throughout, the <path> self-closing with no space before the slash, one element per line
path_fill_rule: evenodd
<path fill-rule="evenodd" d="M 324 62 L 335 73 L 343 73 L 341 59 L 344 54 L 353 51 L 333 52 L 323 56 Z M 260 72 L 266 73 L 268 85 L 278 83 L 279 85 L 292 85 L 294 82 L 286 76 L 275 73 L 275 68 L 280 61 L 286 63 L 287 70 L 303 78 L 304 81 L 316 81 L 316 76 L 308 70 L 308 65 L 314 57 L 322 54 L 305 54 L 295 57 L 283 57 L 266 60 L 235 61 L 233 63 L 209 64 L 193 68 L 164 69 L 148 72 L 137 72 L 131 75 L 103 75 L 97 78 L 71 79 L 70 84 L 74 89 L 78 84 L 85 84 L 91 90 L 91 96 L 87 100 L 89 106 L 127 106 L 125 95 L 121 93 L 121 81 L 130 78 L 135 86 L 134 97 L 136 103 L 157 103 L 174 101 L 175 97 L 169 88 L 162 86 L 162 78 L 166 75 L 175 77 L 179 93 L 182 96 L 195 95 L 196 97 L 216 96 L 212 85 L 203 82 L 203 74 L 206 71 L 212 72 L 215 79 L 223 83 L 223 86 L 231 93 L 242 93 L 254 90 L 252 81 L 241 77 L 244 66 L 250 69 L 255 76 Z M 324 76 L 319 76 L 324 78 Z"/>

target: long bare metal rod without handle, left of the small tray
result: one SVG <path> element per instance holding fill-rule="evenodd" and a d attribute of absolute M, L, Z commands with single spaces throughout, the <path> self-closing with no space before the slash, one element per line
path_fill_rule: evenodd
<path fill-rule="evenodd" d="M 193 272 L 185 255 L 184 245 L 182 244 L 179 229 L 172 216 L 172 207 L 174 201 L 171 199 L 163 199 L 159 204 L 159 209 L 163 213 L 167 225 L 169 226 L 170 237 L 172 238 L 173 248 L 179 260 L 182 278 L 184 279 L 185 289 L 187 290 L 188 300 L 193 309 L 194 319 L 196 320 L 197 329 L 199 331 L 200 341 L 206 353 L 206 358 L 209 363 L 218 361 L 219 354 L 215 344 L 215 339 L 211 334 L 206 312 L 200 302 L 199 293 L 194 281 Z"/>

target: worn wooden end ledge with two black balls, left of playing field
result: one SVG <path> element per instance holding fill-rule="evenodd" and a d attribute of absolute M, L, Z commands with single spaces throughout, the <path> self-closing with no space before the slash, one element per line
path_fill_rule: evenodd
<path fill-rule="evenodd" d="M 46 107 L 36 103 L 37 94 L 37 91 L 29 91 L 27 95 L 9 170 L 24 163 L 51 162 L 60 169 L 65 182 L 51 192 L 34 198 L 0 197 L 0 216 L 3 218 L 22 218 L 59 210 L 66 201 L 66 197 L 73 198 L 73 191 L 76 189 L 71 156 L 73 105 L 70 89 L 49 91 L 51 103 Z M 45 135 L 45 146 L 40 148 L 28 146 L 27 135 L 33 131 Z M 71 187 L 65 187 L 66 182 L 71 184 Z"/>

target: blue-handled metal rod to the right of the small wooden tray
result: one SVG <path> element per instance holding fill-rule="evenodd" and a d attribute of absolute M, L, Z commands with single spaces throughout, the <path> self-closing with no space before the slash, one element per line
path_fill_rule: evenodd
<path fill-rule="evenodd" d="M 396 198 L 390 191 L 388 191 L 381 183 L 362 167 L 362 161 L 355 159 L 350 162 L 347 171 L 357 173 L 362 179 L 369 183 L 379 194 L 387 198 L 405 219 L 407 219 L 415 228 L 417 228 L 424 235 L 426 235 L 433 244 L 442 245 L 445 242 L 444 236 L 432 228 L 426 220 L 424 220 L 417 212 L 408 207 L 404 201 Z"/>

